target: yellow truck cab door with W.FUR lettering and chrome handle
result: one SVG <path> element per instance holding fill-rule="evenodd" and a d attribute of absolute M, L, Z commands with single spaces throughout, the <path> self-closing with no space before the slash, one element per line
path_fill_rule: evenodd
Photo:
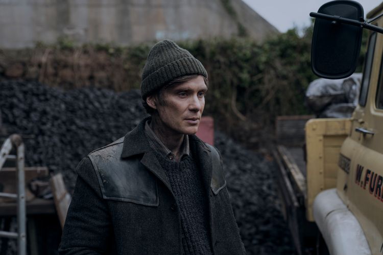
<path fill-rule="evenodd" d="M 379 26 L 382 25 L 380 19 Z M 350 141 L 353 150 L 346 185 L 338 192 L 360 222 L 373 254 L 383 245 L 383 35 L 370 35 L 360 101 L 353 116 Z M 351 142 L 352 141 L 352 142 Z M 345 143 L 347 144 L 347 143 Z M 341 156 L 342 157 L 342 156 Z"/>

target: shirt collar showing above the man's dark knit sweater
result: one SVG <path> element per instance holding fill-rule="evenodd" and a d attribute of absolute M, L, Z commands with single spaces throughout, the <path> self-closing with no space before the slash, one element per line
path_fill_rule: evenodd
<path fill-rule="evenodd" d="M 149 125 L 149 121 L 150 120 L 148 120 L 145 123 L 145 134 L 149 138 L 150 147 L 152 147 L 152 149 L 154 149 L 154 150 L 159 151 L 163 156 L 167 157 L 168 159 L 175 161 L 176 160 L 175 155 L 173 154 L 173 152 L 169 148 L 167 148 L 161 142 L 161 140 L 158 138 L 158 136 L 154 133 L 154 131 L 151 129 L 151 127 Z M 181 160 L 182 157 L 190 154 L 189 137 L 187 135 L 183 136 L 183 141 L 182 141 L 180 150 L 181 150 L 181 156 L 180 156 L 179 160 Z"/>

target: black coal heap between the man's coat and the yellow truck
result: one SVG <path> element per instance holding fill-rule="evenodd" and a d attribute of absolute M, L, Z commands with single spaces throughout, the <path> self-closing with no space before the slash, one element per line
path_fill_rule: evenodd
<path fill-rule="evenodd" d="M 227 188 L 247 254 L 294 254 L 281 214 L 276 165 L 216 132 L 226 171 Z"/>

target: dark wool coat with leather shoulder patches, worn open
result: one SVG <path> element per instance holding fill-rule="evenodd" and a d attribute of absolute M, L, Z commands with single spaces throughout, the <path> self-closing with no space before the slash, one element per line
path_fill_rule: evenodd
<path fill-rule="evenodd" d="M 181 219 L 144 131 L 93 151 L 78 165 L 60 254 L 182 254 Z M 214 254 L 245 254 L 215 148 L 189 136 L 209 200 Z"/>

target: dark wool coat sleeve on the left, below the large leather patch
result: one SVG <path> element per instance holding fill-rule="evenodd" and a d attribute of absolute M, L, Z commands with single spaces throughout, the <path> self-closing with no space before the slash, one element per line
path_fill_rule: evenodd
<path fill-rule="evenodd" d="M 110 214 L 89 158 L 79 163 L 77 172 L 59 254 L 110 253 L 110 246 L 114 246 Z"/>

